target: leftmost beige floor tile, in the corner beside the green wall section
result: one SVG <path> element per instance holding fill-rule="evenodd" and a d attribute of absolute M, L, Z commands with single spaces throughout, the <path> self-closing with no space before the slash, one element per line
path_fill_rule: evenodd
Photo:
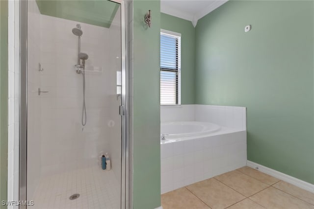
<path fill-rule="evenodd" d="M 163 209 L 209 209 L 185 187 L 161 195 Z"/>

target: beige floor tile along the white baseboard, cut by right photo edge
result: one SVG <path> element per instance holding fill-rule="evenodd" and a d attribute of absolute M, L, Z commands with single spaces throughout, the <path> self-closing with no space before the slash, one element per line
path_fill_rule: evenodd
<path fill-rule="evenodd" d="M 278 182 L 277 184 L 273 185 L 273 187 L 278 188 L 284 192 L 287 192 L 295 197 L 300 198 L 301 200 L 304 200 L 314 205 L 314 193 L 312 192 L 301 189 L 297 186 L 291 185 L 283 181 Z"/>

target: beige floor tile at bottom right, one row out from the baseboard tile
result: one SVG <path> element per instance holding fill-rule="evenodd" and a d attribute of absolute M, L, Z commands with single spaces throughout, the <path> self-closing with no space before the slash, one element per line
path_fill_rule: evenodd
<path fill-rule="evenodd" d="M 267 209 L 314 209 L 314 206 L 274 187 L 268 187 L 250 197 Z"/>

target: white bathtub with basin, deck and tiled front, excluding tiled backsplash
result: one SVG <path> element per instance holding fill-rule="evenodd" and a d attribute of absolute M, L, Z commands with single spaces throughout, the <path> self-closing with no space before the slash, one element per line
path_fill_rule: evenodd
<path fill-rule="evenodd" d="M 161 122 L 161 194 L 246 165 L 246 130 L 210 122 Z"/>

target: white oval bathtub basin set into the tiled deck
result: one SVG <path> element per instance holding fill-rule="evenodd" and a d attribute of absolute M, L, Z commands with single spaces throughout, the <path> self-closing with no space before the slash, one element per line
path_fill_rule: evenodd
<path fill-rule="evenodd" d="M 160 133 L 168 140 L 183 140 L 217 132 L 221 127 L 214 123 L 199 121 L 161 122 Z"/>

